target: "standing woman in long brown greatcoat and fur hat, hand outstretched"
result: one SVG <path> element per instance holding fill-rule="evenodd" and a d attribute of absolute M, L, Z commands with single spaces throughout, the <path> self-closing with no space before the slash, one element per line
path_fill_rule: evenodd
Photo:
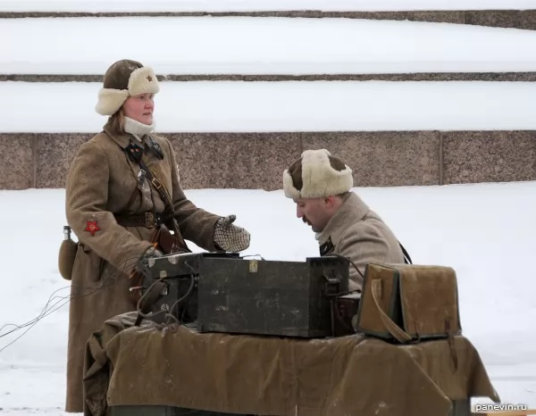
<path fill-rule="evenodd" d="M 66 277 L 71 279 L 66 412 L 83 412 L 88 338 L 105 320 L 136 310 L 129 276 L 139 261 L 161 254 L 150 241 L 161 217 L 176 220 L 183 251 L 188 251 L 184 240 L 206 251 L 239 252 L 249 245 L 249 233 L 232 224 L 234 215 L 206 212 L 185 196 L 170 142 L 153 133 L 158 91 L 151 68 L 130 60 L 113 63 L 96 104 L 96 112 L 109 119 L 80 146 L 68 172 L 66 217 L 78 247 Z M 153 178 L 167 198 L 150 183 Z"/>

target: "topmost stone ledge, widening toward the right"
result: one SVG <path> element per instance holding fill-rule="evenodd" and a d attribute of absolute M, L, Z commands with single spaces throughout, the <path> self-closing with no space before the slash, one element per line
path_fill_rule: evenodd
<path fill-rule="evenodd" d="M 2 19 L 71 18 L 71 17 L 284 17 L 284 18 L 346 18 L 389 21 L 430 21 L 457 23 L 498 28 L 536 29 L 536 10 L 447 10 L 447 11 L 394 11 L 357 12 L 289 10 L 259 12 L 0 12 Z"/>

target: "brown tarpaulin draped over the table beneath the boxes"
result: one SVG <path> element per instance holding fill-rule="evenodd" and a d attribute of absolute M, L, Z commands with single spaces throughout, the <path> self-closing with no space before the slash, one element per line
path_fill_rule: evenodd
<path fill-rule="evenodd" d="M 463 336 L 393 345 L 363 335 L 300 339 L 198 333 L 136 312 L 105 321 L 86 346 L 85 415 L 166 405 L 272 416 L 447 415 L 451 401 L 499 402 Z"/>

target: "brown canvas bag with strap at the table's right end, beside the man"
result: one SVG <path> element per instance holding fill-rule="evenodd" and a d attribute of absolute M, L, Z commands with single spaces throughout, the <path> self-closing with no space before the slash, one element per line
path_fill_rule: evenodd
<path fill-rule="evenodd" d="M 367 264 L 355 329 L 402 344 L 461 334 L 455 270 Z"/>

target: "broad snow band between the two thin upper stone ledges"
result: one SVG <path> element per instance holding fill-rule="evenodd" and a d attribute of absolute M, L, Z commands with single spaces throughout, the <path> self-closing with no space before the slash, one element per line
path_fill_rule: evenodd
<path fill-rule="evenodd" d="M 103 47 L 128 33 L 143 36 L 121 47 Z M 536 31 L 448 23 L 250 17 L 7 19 L 0 25 L 0 37 L 16 39 L 0 43 L 0 73 L 100 75 L 125 57 L 163 74 L 536 71 Z"/>

